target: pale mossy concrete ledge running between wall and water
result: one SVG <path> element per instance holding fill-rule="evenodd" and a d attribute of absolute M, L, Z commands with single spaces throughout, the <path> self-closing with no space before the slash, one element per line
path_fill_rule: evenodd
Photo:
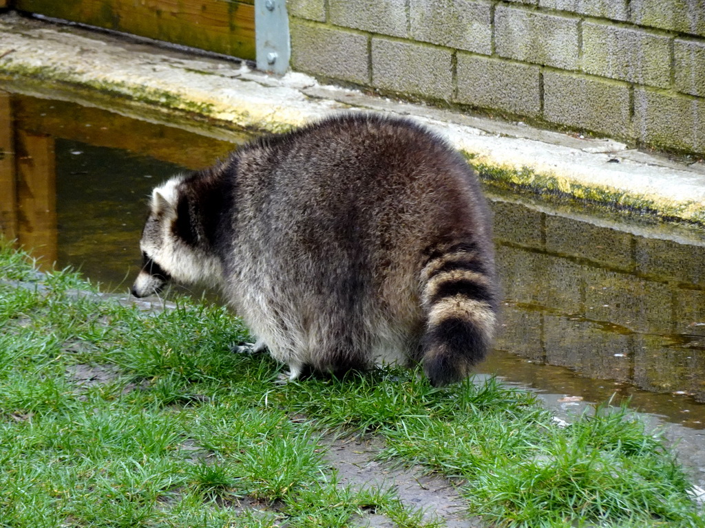
<path fill-rule="evenodd" d="M 705 166 L 649 156 L 609 139 L 581 139 L 398 103 L 319 85 L 305 75 L 282 78 L 235 61 L 0 16 L 0 81 L 109 109 L 180 114 L 191 125 L 279 132 L 345 110 L 407 115 L 447 137 L 496 187 L 575 199 L 625 214 L 705 226 Z M 68 91 L 67 91 L 68 90 Z M 52 93 L 51 96 L 56 96 Z"/>

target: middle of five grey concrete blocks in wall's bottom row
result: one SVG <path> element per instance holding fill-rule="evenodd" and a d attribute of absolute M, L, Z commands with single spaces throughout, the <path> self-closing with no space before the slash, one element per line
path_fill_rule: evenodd
<path fill-rule="evenodd" d="M 541 113 L 541 68 L 458 53 L 458 99 L 520 115 Z"/>

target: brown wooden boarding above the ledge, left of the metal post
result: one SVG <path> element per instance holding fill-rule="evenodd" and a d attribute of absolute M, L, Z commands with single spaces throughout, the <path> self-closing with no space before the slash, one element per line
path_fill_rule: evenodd
<path fill-rule="evenodd" d="M 254 0 L 16 0 L 15 7 L 255 59 Z"/>

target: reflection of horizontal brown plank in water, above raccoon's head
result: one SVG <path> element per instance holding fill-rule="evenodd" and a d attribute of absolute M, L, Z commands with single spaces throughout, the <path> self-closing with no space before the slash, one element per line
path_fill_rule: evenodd
<path fill-rule="evenodd" d="M 16 99 L 14 113 L 16 127 L 30 134 L 50 134 L 90 145 L 125 149 L 190 169 L 212 165 L 235 148 L 231 142 L 74 103 L 20 97 Z M 247 139 L 243 134 L 240 142 Z"/>

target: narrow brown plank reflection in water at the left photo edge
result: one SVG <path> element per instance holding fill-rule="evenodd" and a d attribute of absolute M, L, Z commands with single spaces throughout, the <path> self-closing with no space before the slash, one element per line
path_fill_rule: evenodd
<path fill-rule="evenodd" d="M 15 134 L 11 96 L 0 92 L 0 234 L 17 238 Z"/>

